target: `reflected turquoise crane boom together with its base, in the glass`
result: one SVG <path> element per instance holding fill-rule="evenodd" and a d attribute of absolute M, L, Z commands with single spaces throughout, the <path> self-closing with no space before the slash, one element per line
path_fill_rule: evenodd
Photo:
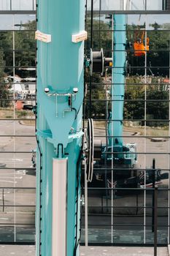
<path fill-rule="evenodd" d="M 113 15 L 113 67 L 112 67 L 112 113 L 109 116 L 108 133 L 109 151 L 115 154 L 108 155 L 114 159 L 115 165 L 134 167 L 136 163 L 136 144 L 123 144 L 123 105 L 125 96 L 125 61 L 126 61 L 126 21 L 125 15 Z"/>

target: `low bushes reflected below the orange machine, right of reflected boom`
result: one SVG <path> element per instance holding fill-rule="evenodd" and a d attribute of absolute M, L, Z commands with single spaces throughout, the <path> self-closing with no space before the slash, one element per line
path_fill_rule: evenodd
<path fill-rule="evenodd" d="M 144 85 L 131 85 L 137 83 L 136 77 L 131 77 L 131 83 L 126 86 L 124 118 L 143 119 L 144 118 Z M 147 86 L 147 116 L 151 119 L 169 119 L 169 91 L 165 91 L 160 85 Z M 148 122 L 147 125 L 150 125 Z M 157 122 L 158 126 L 166 125 Z"/>

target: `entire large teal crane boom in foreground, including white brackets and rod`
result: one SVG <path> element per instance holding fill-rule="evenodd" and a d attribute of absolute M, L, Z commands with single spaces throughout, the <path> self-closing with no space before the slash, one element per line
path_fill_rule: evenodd
<path fill-rule="evenodd" d="M 37 1 L 36 256 L 78 255 L 85 1 Z"/>

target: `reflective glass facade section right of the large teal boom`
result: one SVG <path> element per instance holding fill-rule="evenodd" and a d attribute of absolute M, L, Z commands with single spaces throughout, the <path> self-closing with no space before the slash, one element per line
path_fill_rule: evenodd
<path fill-rule="evenodd" d="M 107 67 L 104 78 L 95 73 L 92 78 L 86 77 L 85 119 L 93 118 L 94 138 L 101 141 L 102 152 L 101 159 L 94 161 L 88 201 L 82 206 L 82 243 L 86 238 L 88 244 L 93 245 L 153 244 L 157 186 L 158 244 L 169 243 L 170 13 L 166 10 L 167 4 L 168 1 L 98 0 L 93 4 L 95 12 L 91 22 L 91 2 L 88 1 L 87 56 L 90 56 L 90 48 L 93 51 L 103 48 L 106 57 L 118 56 L 115 34 L 121 37 L 124 33 L 126 62 L 125 67 L 114 64 Z M 121 21 L 117 29 L 115 17 L 125 20 L 123 29 Z M 143 43 L 140 53 L 134 45 L 139 39 Z M 118 99 L 124 102 L 120 137 L 123 146 L 130 143 L 136 146 L 137 160 L 131 167 L 117 162 L 114 148 L 109 147 L 109 141 L 115 140 L 114 125 L 118 122 L 112 117 L 112 105 L 117 100 L 112 92 L 117 84 L 122 85 L 113 81 L 122 69 L 125 95 Z M 152 170 L 153 159 L 155 170 Z M 85 207 L 88 214 L 85 214 Z"/>

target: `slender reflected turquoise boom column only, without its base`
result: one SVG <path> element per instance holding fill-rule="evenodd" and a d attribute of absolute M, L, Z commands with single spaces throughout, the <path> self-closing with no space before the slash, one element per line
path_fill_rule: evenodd
<path fill-rule="evenodd" d="M 112 121 L 109 134 L 114 136 L 113 146 L 123 146 L 123 105 L 125 95 L 125 15 L 113 15 L 113 68 L 112 68 Z M 112 132 L 113 127 L 113 132 Z M 112 139 L 109 140 L 112 146 Z"/>

